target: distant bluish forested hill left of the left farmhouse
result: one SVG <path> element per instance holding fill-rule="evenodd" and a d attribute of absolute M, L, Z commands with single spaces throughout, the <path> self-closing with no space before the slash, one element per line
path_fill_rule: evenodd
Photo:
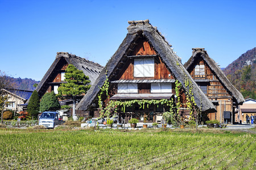
<path fill-rule="evenodd" d="M 40 81 L 36 81 L 33 79 L 28 79 L 28 78 L 11 78 L 13 79 L 13 82 L 16 83 L 16 86 L 20 90 L 29 90 L 29 91 L 34 91 L 35 87 L 33 87 L 33 84 L 39 83 Z"/>

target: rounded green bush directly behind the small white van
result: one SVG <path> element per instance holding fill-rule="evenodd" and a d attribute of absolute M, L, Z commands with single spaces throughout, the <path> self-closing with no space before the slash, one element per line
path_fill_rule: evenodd
<path fill-rule="evenodd" d="M 44 111 L 57 111 L 60 109 L 60 103 L 54 92 L 46 93 L 43 95 L 40 102 L 40 112 Z"/>

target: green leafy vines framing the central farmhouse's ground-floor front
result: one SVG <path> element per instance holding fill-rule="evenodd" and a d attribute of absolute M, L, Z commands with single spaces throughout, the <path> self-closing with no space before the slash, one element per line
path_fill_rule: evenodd
<path fill-rule="evenodd" d="M 179 62 L 176 63 L 177 66 L 180 66 Z M 180 66 L 181 67 L 181 66 Z M 181 69 L 183 70 L 183 69 Z M 183 71 L 184 73 L 184 71 Z M 107 74 L 107 73 L 106 73 Z M 100 92 L 98 94 L 98 105 L 99 108 L 101 108 L 100 110 L 100 117 L 109 117 L 111 113 L 113 112 L 117 112 L 118 108 L 121 108 L 122 112 L 125 112 L 125 108 L 126 107 L 131 107 L 131 105 L 133 104 L 138 104 L 140 106 L 140 108 L 144 109 L 145 107 L 149 107 L 151 104 L 156 105 L 157 107 L 159 106 L 159 104 L 161 105 L 167 105 L 168 107 L 170 107 L 170 111 L 167 111 L 165 114 L 171 114 L 171 117 L 173 118 L 179 118 L 179 111 L 180 108 L 182 107 L 182 105 L 186 104 L 187 105 L 187 109 L 189 111 L 189 114 L 191 116 L 191 119 L 194 120 L 195 116 L 194 116 L 194 112 L 197 112 L 197 118 L 198 116 L 200 116 L 201 114 L 201 107 L 197 107 L 195 99 L 194 99 L 194 95 L 193 95 L 193 84 L 191 82 L 191 79 L 188 78 L 188 75 L 184 73 L 184 85 L 185 85 L 185 97 L 186 97 L 186 103 L 181 103 L 181 89 L 182 84 L 179 82 L 179 80 L 176 80 L 175 82 L 175 92 L 176 92 L 176 96 L 177 96 L 177 101 L 175 104 L 175 101 L 173 98 L 171 98 L 171 100 L 167 100 L 167 99 L 161 99 L 161 100 L 128 100 L 128 101 L 114 101 L 114 100 L 110 100 L 109 101 L 109 79 L 108 76 L 106 75 L 106 80 L 103 84 L 102 87 L 100 88 Z M 106 95 L 107 99 L 108 99 L 108 103 L 106 103 L 105 108 L 103 108 L 103 104 L 102 104 L 102 97 Z M 169 116 L 170 117 L 170 116 Z M 179 122 L 178 122 L 179 123 Z"/>

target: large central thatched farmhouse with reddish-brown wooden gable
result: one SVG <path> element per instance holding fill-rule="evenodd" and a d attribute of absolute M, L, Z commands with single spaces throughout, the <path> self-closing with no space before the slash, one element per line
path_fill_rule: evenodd
<path fill-rule="evenodd" d="M 90 111 L 99 116 L 100 109 L 106 107 L 110 101 L 138 101 L 145 106 L 134 103 L 127 108 L 119 109 L 123 118 L 138 118 L 147 122 L 161 120 L 162 113 L 170 109 L 166 105 L 154 104 L 151 101 L 173 100 L 181 96 L 180 114 L 185 118 L 189 113 L 185 101 L 190 82 L 194 94 L 196 107 L 202 112 L 215 111 L 214 105 L 200 90 L 191 75 L 180 62 L 180 58 L 173 52 L 171 45 L 152 27 L 148 20 L 129 22 L 128 33 L 119 46 L 117 52 L 109 59 L 98 79 L 77 105 L 77 109 Z M 107 94 L 98 95 L 102 87 L 109 83 Z M 175 94 L 175 82 L 181 83 L 180 94 Z"/>

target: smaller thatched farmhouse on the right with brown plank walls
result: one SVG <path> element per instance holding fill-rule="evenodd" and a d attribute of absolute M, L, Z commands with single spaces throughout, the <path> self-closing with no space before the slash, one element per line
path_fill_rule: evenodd
<path fill-rule="evenodd" d="M 235 121 L 234 109 L 245 101 L 242 94 L 229 82 L 217 63 L 204 48 L 193 48 L 192 57 L 184 64 L 192 78 L 216 106 L 217 112 L 208 114 L 210 120 Z"/>

